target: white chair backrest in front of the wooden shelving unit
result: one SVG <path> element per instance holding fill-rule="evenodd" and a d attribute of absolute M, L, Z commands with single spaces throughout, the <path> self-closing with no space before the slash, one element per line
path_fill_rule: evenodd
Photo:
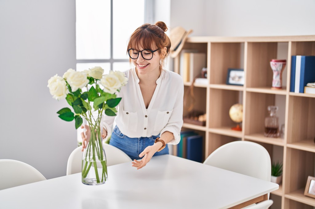
<path fill-rule="evenodd" d="M 203 163 L 266 181 L 271 179 L 270 155 L 265 147 L 255 142 L 235 141 L 222 145 Z"/>

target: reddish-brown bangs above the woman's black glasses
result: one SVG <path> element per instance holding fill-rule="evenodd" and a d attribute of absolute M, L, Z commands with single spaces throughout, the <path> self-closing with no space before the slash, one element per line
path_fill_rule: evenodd
<path fill-rule="evenodd" d="M 137 33 L 133 34 L 130 37 L 129 44 L 127 47 L 128 49 L 135 49 L 137 51 L 140 51 L 140 49 L 149 49 L 149 50 L 156 50 L 157 48 L 161 48 L 156 40 L 158 40 L 157 37 L 154 37 L 152 33 L 150 33 L 147 30 L 138 31 Z M 160 51 L 160 50 L 158 50 Z"/>

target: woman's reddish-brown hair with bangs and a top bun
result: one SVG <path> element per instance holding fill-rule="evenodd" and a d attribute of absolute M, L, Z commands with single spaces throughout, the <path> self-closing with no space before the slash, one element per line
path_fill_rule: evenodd
<path fill-rule="evenodd" d="M 169 48 L 171 47 L 171 41 L 165 34 L 165 31 L 167 31 L 166 24 L 161 21 L 157 22 L 155 25 L 148 23 L 141 25 L 130 36 L 127 51 L 128 49 L 140 51 L 139 48 L 150 49 L 153 51 L 158 49 L 157 52 L 159 55 L 162 55 L 161 49 L 166 47 L 166 54 L 164 54 L 164 57 L 160 61 L 161 71 L 164 64 L 164 59 L 169 54 Z M 130 58 L 129 60 L 131 62 Z"/>

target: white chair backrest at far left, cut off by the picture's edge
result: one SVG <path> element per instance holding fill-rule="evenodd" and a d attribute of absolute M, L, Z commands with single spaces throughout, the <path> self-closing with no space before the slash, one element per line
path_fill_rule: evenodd
<path fill-rule="evenodd" d="M 37 169 L 18 160 L 0 159 L 0 168 L 0 190 L 46 180 Z"/>

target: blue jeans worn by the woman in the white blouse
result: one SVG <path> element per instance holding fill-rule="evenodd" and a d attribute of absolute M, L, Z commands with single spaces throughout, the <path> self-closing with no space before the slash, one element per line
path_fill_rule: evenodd
<path fill-rule="evenodd" d="M 132 160 L 134 159 L 140 159 L 139 154 L 150 145 L 154 144 L 155 139 L 159 137 L 157 136 L 151 136 L 151 137 L 140 137 L 140 138 L 130 138 L 126 135 L 123 135 L 122 132 L 120 132 L 119 128 L 115 126 L 111 140 L 109 141 L 109 144 L 117 147 L 118 149 L 121 149 L 124 153 L 126 153 Z M 160 152 L 154 153 L 153 156 L 158 155 L 164 155 L 169 154 L 169 148 L 166 144 L 166 147 L 161 150 Z"/>

